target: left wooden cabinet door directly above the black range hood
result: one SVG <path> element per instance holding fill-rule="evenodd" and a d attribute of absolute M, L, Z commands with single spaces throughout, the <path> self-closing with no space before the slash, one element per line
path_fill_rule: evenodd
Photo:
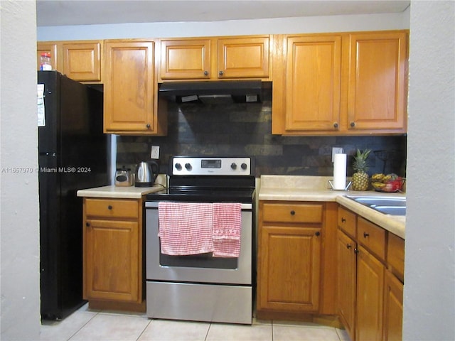
<path fill-rule="evenodd" d="M 210 39 L 161 40 L 161 80 L 210 78 Z"/>

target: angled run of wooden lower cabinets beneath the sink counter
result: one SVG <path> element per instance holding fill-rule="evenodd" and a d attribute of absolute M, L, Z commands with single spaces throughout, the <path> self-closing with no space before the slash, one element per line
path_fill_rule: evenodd
<path fill-rule="evenodd" d="M 343 207 L 337 237 L 336 310 L 350 339 L 402 340 L 404 239 Z"/>

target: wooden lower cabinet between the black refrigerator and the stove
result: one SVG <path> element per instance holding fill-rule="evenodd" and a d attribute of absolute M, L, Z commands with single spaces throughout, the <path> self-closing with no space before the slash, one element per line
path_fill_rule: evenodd
<path fill-rule="evenodd" d="M 145 310 L 142 203 L 84 200 L 84 298 L 90 308 Z"/>

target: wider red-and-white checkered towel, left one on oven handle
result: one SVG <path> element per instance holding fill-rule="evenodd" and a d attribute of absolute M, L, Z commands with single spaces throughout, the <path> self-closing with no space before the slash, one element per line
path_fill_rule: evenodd
<path fill-rule="evenodd" d="M 159 202 L 161 253 L 203 254 L 213 251 L 213 204 Z"/>

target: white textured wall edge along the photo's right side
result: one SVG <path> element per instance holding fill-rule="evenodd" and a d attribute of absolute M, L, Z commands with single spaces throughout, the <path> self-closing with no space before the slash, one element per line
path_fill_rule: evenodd
<path fill-rule="evenodd" d="M 455 340 L 454 14 L 411 4 L 403 340 Z"/>

